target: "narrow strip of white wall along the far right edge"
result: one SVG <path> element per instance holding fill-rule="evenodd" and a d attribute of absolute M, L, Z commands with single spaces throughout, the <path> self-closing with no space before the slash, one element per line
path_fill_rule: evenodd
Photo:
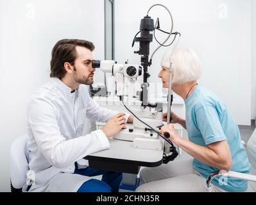
<path fill-rule="evenodd" d="M 252 1 L 252 119 L 256 119 L 256 1 Z"/>

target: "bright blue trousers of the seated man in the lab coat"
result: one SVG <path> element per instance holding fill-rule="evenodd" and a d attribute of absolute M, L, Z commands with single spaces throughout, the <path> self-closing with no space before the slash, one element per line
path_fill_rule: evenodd
<path fill-rule="evenodd" d="M 118 192 L 119 185 L 122 181 L 121 172 L 109 172 L 97 168 L 76 168 L 74 174 L 81 174 L 89 177 L 102 175 L 101 181 L 90 179 L 83 183 L 78 189 L 78 192 Z"/>

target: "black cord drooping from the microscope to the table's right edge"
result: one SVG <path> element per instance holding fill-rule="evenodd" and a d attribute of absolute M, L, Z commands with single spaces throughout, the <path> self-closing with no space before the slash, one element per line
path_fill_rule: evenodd
<path fill-rule="evenodd" d="M 148 124 L 146 124 L 146 122 L 143 122 L 141 119 L 139 119 L 139 117 L 137 117 L 129 108 L 127 108 L 127 106 L 124 104 L 123 101 L 123 95 L 119 96 L 120 101 L 123 103 L 124 108 L 126 108 L 126 110 L 128 110 L 137 120 L 139 120 L 140 122 L 142 122 L 144 125 L 148 126 L 151 131 L 154 131 L 155 133 L 157 133 L 157 135 L 159 135 L 161 138 L 163 138 L 164 140 L 166 140 L 167 143 L 169 143 L 171 145 L 170 147 L 170 151 L 172 152 L 171 155 L 167 156 L 166 154 L 164 154 L 164 158 L 163 158 L 163 162 L 164 163 L 168 163 L 169 161 L 173 161 L 175 160 L 176 156 L 178 156 L 178 152 L 176 151 L 176 147 L 175 145 L 173 145 L 173 143 L 171 142 L 171 140 L 168 140 L 166 137 L 162 136 L 161 133 L 159 133 L 158 131 L 156 131 L 153 127 L 149 126 Z M 168 133 L 169 134 L 169 133 Z"/>

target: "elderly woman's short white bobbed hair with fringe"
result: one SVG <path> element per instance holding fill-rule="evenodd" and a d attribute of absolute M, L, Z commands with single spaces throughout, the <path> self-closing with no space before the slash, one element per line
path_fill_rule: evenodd
<path fill-rule="evenodd" d="M 164 54 L 161 66 L 169 68 L 173 62 L 173 83 L 197 81 L 201 76 L 201 63 L 197 54 L 189 48 L 176 48 Z"/>

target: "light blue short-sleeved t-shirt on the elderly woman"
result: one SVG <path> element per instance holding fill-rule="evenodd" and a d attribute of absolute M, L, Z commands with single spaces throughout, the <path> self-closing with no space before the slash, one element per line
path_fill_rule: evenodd
<path fill-rule="evenodd" d="M 250 163 L 241 142 L 239 128 L 225 103 L 198 85 L 185 100 L 185 108 L 189 140 L 203 147 L 226 140 L 232 154 L 231 170 L 250 174 Z M 196 159 L 193 161 L 193 168 L 205 178 L 218 171 L 217 168 L 209 167 Z M 248 186 L 247 181 L 230 177 L 216 177 L 212 184 L 226 192 L 244 192 Z"/>

